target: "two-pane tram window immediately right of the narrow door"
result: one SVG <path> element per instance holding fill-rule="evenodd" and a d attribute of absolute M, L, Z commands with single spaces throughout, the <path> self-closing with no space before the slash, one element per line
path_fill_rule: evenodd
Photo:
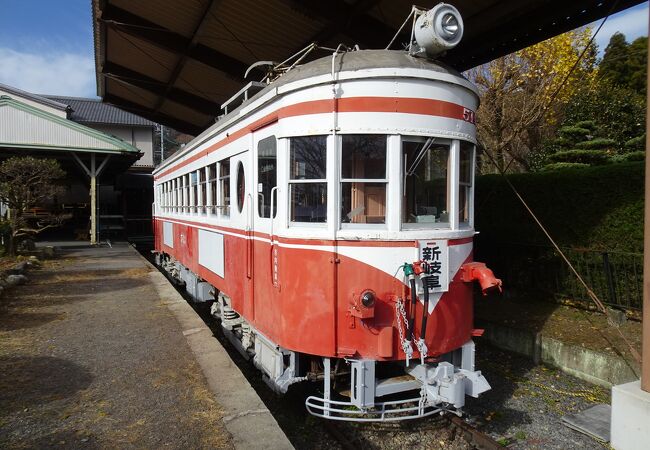
<path fill-rule="evenodd" d="M 327 222 L 327 137 L 291 138 L 289 198 L 292 222 Z"/>

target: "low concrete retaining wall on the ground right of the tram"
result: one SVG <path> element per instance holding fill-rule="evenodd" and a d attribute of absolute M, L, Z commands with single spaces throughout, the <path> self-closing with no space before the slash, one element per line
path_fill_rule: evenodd
<path fill-rule="evenodd" d="M 581 380 L 611 387 L 639 379 L 639 368 L 620 356 L 492 322 L 480 321 L 478 325 L 485 328 L 485 339 L 494 346 L 528 356 L 536 364 L 557 367 Z"/>

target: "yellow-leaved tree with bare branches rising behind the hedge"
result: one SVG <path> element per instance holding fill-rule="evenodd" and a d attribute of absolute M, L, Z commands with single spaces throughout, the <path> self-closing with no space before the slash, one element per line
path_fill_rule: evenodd
<path fill-rule="evenodd" d="M 593 79 L 593 47 L 576 66 L 590 38 L 588 28 L 565 33 L 468 73 L 481 95 L 479 139 L 497 171 L 511 161 L 511 167 L 528 171 L 532 155 L 554 131 L 562 106 Z M 483 168 L 484 173 L 494 169 L 491 161 L 483 161 Z"/>

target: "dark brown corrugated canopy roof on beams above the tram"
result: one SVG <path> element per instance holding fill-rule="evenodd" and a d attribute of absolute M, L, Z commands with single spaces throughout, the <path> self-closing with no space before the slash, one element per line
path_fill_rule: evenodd
<path fill-rule="evenodd" d="M 283 61 L 312 42 L 384 48 L 413 0 L 92 0 L 98 94 L 189 134 L 260 60 Z M 465 70 L 642 0 L 455 0 L 465 37 L 443 60 Z M 433 7 L 433 1 L 419 1 Z M 408 27 L 406 27 L 408 28 Z M 394 48 L 409 40 L 405 30 Z M 314 52 L 313 58 L 323 56 Z M 250 79 L 262 74 L 252 73 Z"/>

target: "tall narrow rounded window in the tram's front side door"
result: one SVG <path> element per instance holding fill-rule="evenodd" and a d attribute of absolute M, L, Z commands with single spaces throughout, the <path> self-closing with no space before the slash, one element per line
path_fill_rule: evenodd
<path fill-rule="evenodd" d="M 260 217 L 271 217 L 271 203 L 273 203 L 273 217 L 277 209 L 277 198 L 271 202 L 271 190 L 278 184 L 278 159 L 275 136 L 262 139 L 257 144 L 257 198 Z M 273 192 L 275 196 L 277 190 Z"/>

